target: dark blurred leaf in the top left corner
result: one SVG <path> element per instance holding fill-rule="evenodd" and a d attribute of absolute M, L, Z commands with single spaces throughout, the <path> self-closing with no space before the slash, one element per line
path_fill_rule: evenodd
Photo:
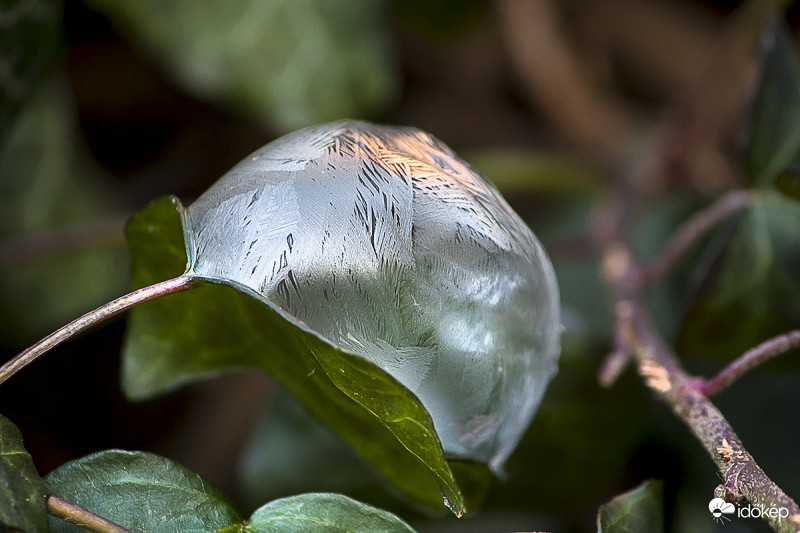
<path fill-rule="evenodd" d="M 61 0 L 0 3 L 0 147 L 17 110 L 50 65 L 61 11 Z"/>

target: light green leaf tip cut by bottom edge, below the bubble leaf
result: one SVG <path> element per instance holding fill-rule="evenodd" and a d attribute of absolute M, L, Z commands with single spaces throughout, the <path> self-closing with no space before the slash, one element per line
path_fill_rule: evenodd
<path fill-rule="evenodd" d="M 246 531 L 253 533 L 408 533 L 414 530 L 391 513 L 340 494 L 303 494 L 275 500 L 256 510 Z"/>

